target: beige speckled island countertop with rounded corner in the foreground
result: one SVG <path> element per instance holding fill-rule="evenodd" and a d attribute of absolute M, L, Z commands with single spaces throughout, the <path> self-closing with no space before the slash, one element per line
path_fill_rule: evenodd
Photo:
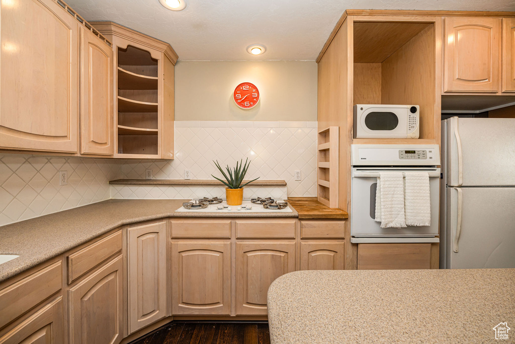
<path fill-rule="evenodd" d="M 268 289 L 268 322 L 275 344 L 514 343 L 515 269 L 292 272 Z"/>

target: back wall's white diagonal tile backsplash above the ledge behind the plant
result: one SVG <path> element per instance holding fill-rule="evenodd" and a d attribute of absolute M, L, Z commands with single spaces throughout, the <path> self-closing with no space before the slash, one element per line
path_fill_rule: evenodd
<path fill-rule="evenodd" d="M 175 160 L 125 160 L 122 178 L 157 179 L 221 177 L 214 166 L 252 160 L 246 178 L 284 179 L 288 196 L 316 196 L 317 122 L 176 121 Z M 295 170 L 302 180 L 295 181 Z M 132 196 L 134 197 L 134 196 Z"/>

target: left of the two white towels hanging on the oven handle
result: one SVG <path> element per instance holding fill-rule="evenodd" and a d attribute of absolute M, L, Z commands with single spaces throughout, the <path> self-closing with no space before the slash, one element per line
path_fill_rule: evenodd
<path fill-rule="evenodd" d="M 381 228 L 406 227 L 402 172 L 379 172 L 375 193 L 375 221 L 381 222 Z"/>

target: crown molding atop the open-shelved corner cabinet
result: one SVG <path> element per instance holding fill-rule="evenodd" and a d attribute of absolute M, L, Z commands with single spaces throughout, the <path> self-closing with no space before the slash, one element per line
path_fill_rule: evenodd
<path fill-rule="evenodd" d="M 113 35 L 124 38 L 129 41 L 137 41 L 149 48 L 163 52 L 166 57 L 175 65 L 179 56 L 170 44 L 163 42 L 157 38 L 153 38 L 142 34 L 141 32 L 129 29 L 128 27 L 116 24 L 114 22 L 90 22 L 102 35 Z"/>

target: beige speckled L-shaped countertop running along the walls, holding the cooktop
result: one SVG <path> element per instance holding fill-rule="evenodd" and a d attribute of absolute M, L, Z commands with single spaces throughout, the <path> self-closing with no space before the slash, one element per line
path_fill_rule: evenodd
<path fill-rule="evenodd" d="M 293 212 L 175 212 L 189 200 L 108 200 L 0 227 L 0 282 L 119 226 L 167 217 L 293 217 Z"/>

